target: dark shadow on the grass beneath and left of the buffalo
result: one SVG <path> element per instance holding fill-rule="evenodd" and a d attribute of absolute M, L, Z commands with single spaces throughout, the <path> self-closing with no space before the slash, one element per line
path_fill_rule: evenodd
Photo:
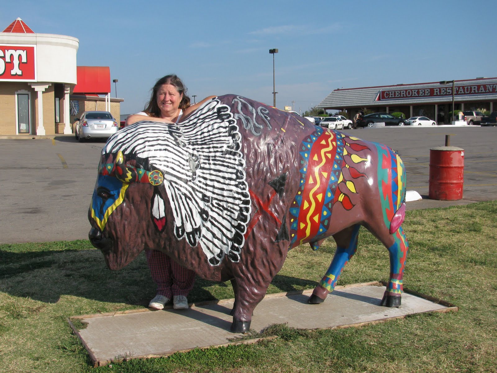
<path fill-rule="evenodd" d="M 147 306 L 155 296 L 145 253 L 119 271 L 110 271 L 99 250 L 0 251 L 0 291 L 56 303 L 62 295 L 101 302 Z M 272 281 L 280 291 L 314 287 L 317 282 L 276 275 Z M 233 298 L 230 281 L 215 282 L 196 278 L 188 300 Z"/>

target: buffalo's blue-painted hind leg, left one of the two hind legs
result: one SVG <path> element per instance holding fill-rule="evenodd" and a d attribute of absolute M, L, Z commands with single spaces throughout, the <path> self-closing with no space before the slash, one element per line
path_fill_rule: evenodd
<path fill-rule="evenodd" d="M 357 250 L 359 228 L 360 225 L 356 224 L 333 235 L 333 238 L 336 241 L 335 254 L 331 260 L 331 265 L 326 272 L 326 275 L 323 277 L 319 285 L 315 287 L 312 295 L 309 297 L 309 303 L 322 303 L 325 301 L 328 293 L 333 291 L 343 267 L 347 264 L 350 258 L 352 258 Z"/>

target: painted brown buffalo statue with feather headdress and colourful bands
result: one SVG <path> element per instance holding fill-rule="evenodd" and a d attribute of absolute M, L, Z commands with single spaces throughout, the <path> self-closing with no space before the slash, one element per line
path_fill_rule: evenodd
<path fill-rule="evenodd" d="M 389 147 L 229 94 L 181 123 L 142 121 L 107 141 L 89 239 L 111 270 L 154 249 L 204 279 L 231 280 L 231 330 L 245 332 L 288 250 L 333 236 L 330 268 L 309 298 L 321 303 L 361 225 L 390 253 L 381 304 L 399 306 L 405 196 L 404 164 Z"/>

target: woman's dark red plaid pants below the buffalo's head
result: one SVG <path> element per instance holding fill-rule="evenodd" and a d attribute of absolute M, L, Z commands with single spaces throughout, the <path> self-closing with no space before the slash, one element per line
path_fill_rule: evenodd
<path fill-rule="evenodd" d="M 173 295 L 187 296 L 193 288 L 195 272 L 181 267 L 165 253 L 145 250 L 152 280 L 157 284 L 157 295 L 171 299 Z"/>

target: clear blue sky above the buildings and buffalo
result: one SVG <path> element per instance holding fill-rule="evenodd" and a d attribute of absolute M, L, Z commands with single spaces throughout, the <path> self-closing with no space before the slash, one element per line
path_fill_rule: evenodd
<path fill-rule="evenodd" d="M 336 88 L 496 77 L 495 0 L 7 1 L 37 33 L 79 39 L 79 66 L 109 66 L 121 114 L 177 74 L 196 100 L 236 93 L 296 111 Z M 115 97 L 112 84 L 112 97 Z"/>

